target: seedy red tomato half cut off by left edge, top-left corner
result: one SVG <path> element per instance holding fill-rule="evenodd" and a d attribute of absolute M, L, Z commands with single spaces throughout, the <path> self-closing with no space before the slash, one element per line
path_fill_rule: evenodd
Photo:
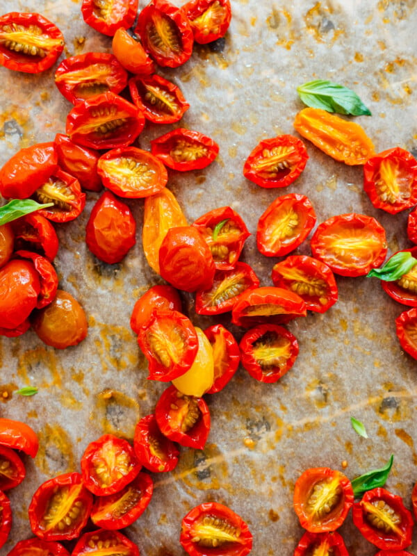
<path fill-rule="evenodd" d="M 43 15 L 10 12 L 0 17 L 0 64 L 9 70 L 44 72 L 63 49 L 63 33 Z"/>

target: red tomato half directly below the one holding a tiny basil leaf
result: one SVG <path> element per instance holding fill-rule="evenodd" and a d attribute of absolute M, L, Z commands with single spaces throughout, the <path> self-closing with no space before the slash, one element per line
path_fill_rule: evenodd
<path fill-rule="evenodd" d="M 250 265 L 236 263 L 231 270 L 216 270 L 213 286 L 197 290 L 195 312 L 199 315 L 219 315 L 231 311 L 244 291 L 259 288 L 259 278 Z"/>

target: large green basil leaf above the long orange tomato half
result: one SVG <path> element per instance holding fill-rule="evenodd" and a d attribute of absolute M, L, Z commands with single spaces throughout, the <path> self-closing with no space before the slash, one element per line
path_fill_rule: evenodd
<path fill-rule="evenodd" d="M 297 87 L 297 92 L 302 102 L 311 108 L 352 116 L 371 115 L 356 92 L 333 81 L 309 81 Z"/>

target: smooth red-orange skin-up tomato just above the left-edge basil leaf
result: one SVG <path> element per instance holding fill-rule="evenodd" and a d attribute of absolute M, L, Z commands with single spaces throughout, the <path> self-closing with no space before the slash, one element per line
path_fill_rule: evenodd
<path fill-rule="evenodd" d="M 0 193 L 6 199 L 27 199 L 57 170 L 53 142 L 20 149 L 0 170 Z"/>

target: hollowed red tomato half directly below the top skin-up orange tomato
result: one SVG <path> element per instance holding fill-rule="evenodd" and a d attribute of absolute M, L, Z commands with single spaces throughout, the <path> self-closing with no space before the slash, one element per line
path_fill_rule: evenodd
<path fill-rule="evenodd" d="M 174 124 L 190 108 L 177 85 L 161 75 L 129 79 L 132 100 L 149 122 Z"/>

